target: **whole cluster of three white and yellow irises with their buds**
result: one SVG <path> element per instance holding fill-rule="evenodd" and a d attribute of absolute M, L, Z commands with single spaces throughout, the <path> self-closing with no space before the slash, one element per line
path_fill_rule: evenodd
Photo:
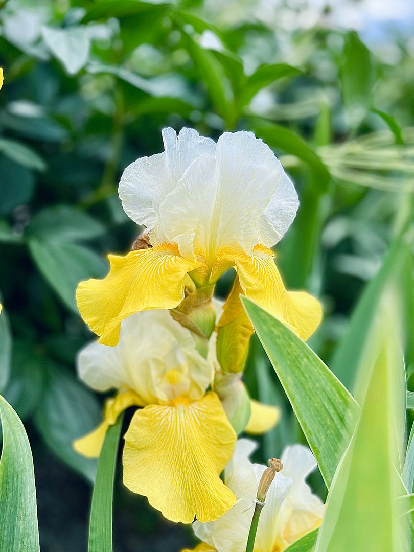
<path fill-rule="evenodd" d="M 321 307 L 304 291 L 287 291 L 274 263 L 270 247 L 293 221 L 298 197 L 269 147 L 251 132 L 226 132 L 216 144 L 191 129 L 164 129 L 163 141 L 165 151 L 132 163 L 119 185 L 144 234 L 126 256 L 109 255 L 107 277 L 77 289 L 79 311 L 99 336 L 79 353 L 79 376 L 116 392 L 102 424 L 74 446 L 98 457 L 108 427 L 137 407 L 124 437 L 125 485 L 172 521 L 197 518 L 194 530 L 213 550 L 242 550 L 246 504 L 262 468 L 247 460 L 251 442 L 236 444 L 237 434 L 267 431 L 278 411 L 250 401 L 242 383 L 253 327 L 239 295 L 302 339 L 319 325 Z M 214 286 L 232 267 L 235 282 L 221 305 Z M 258 536 L 263 552 L 282 549 L 321 517 L 304 484 L 310 453 L 285 455 L 262 523 L 273 536 Z M 301 509 L 303 492 L 311 498 Z"/>

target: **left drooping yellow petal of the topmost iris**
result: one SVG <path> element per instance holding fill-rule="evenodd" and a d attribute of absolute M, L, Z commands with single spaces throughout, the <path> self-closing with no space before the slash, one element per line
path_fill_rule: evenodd
<path fill-rule="evenodd" d="M 185 275 L 201 264 L 184 259 L 177 246 L 168 244 L 108 259 L 107 277 L 81 282 L 76 300 L 99 342 L 112 346 L 118 343 L 121 321 L 134 312 L 174 309 L 183 298 Z"/>

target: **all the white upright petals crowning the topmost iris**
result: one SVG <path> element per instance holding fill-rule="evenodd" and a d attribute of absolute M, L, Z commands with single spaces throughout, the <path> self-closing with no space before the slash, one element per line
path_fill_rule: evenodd
<path fill-rule="evenodd" d="M 183 129 L 163 131 L 166 151 L 124 171 L 119 196 L 154 243 L 176 243 L 182 256 L 211 267 L 217 254 L 272 247 L 298 209 L 294 185 L 272 150 L 252 132 L 217 141 Z"/>

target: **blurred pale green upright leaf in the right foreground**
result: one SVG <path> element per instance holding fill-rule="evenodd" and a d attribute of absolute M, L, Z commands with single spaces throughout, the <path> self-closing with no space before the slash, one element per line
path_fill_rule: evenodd
<path fill-rule="evenodd" d="M 405 418 L 400 313 L 388 290 L 381 299 L 360 364 L 359 421 L 331 486 L 315 552 L 411 550 L 408 519 L 397 502 Z"/>

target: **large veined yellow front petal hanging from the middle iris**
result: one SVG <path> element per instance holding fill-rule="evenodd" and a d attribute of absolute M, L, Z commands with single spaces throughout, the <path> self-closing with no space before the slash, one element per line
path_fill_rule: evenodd
<path fill-rule="evenodd" d="M 124 484 L 171 521 L 213 521 L 236 502 L 219 477 L 235 441 L 213 392 L 190 404 L 146 406 L 125 434 Z"/>

